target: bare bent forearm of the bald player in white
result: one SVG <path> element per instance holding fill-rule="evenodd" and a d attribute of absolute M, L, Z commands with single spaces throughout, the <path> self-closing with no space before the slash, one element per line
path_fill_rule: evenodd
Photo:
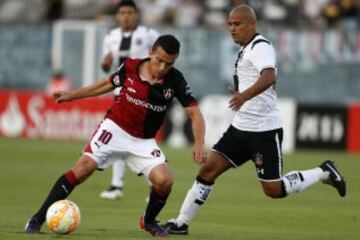
<path fill-rule="evenodd" d="M 240 107 L 249 99 L 259 95 L 264 92 L 266 89 L 271 87 L 276 83 L 276 73 L 273 68 L 266 68 L 262 70 L 259 79 L 255 82 L 254 85 L 246 89 L 245 91 L 239 93 L 234 89 L 230 88 L 229 91 L 232 94 L 232 98 L 229 102 L 229 107 L 237 111 Z"/>

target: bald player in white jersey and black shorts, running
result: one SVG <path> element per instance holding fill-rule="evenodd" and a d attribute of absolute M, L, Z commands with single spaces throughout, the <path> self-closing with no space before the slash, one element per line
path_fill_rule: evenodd
<path fill-rule="evenodd" d="M 236 6 L 229 14 L 228 28 L 240 45 L 235 63 L 235 89 L 229 107 L 236 111 L 232 124 L 214 145 L 187 192 L 176 219 L 163 228 L 170 234 L 188 234 L 188 226 L 205 203 L 215 180 L 232 167 L 251 160 L 264 193 L 284 198 L 318 182 L 335 187 L 346 195 L 343 177 L 330 160 L 319 167 L 282 175 L 282 122 L 276 106 L 276 55 L 273 46 L 256 32 L 256 15 L 247 5 Z"/>

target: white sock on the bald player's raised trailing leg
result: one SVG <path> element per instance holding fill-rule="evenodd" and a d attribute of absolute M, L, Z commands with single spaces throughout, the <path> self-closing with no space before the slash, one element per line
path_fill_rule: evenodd
<path fill-rule="evenodd" d="M 328 172 L 316 167 L 310 170 L 289 172 L 283 176 L 282 180 L 285 185 L 286 195 L 290 195 L 301 192 L 319 181 L 326 180 L 328 177 Z"/>

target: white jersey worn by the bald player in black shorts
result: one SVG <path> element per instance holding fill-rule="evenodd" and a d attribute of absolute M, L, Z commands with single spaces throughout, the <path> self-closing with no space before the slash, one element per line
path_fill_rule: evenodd
<path fill-rule="evenodd" d="M 239 51 L 235 64 L 238 91 L 241 93 L 254 85 L 262 70 L 276 71 L 276 53 L 270 42 L 260 34 Z M 236 112 L 232 125 L 243 131 L 263 132 L 282 128 L 280 112 L 277 108 L 275 86 L 246 101 Z"/>

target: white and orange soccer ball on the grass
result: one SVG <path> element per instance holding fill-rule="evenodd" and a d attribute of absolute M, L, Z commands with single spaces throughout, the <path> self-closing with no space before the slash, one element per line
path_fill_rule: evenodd
<path fill-rule="evenodd" d="M 80 224 L 80 210 L 70 200 L 57 201 L 48 208 L 46 223 L 52 232 L 69 234 Z"/>

